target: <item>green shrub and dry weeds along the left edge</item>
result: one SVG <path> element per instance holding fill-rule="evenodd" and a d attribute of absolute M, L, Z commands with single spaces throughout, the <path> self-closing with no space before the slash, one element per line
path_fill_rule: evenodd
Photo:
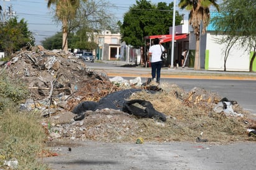
<path fill-rule="evenodd" d="M 14 160 L 17 169 L 47 169 L 38 158 L 46 137 L 39 115 L 19 111 L 28 96 L 24 83 L 0 75 L 0 169 L 7 168 L 4 161 Z"/>

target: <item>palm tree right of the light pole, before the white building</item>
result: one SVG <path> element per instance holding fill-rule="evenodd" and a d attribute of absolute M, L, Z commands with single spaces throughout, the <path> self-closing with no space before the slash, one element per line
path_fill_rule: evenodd
<path fill-rule="evenodd" d="M 194 56 L 194 69 L 200 69 L 199 59 L 199 38 L 200 38 L 200 25 L 203 23 L 201 34 L 205 34 L 206 27 L 210 19 L 210 6 L 214 6 L 219 11 L 217 0 L 180 0 L 178 6 L 181 9 L 190 10 L 189 23 L 194 29 L 196 35 L 196 54 Z"/>

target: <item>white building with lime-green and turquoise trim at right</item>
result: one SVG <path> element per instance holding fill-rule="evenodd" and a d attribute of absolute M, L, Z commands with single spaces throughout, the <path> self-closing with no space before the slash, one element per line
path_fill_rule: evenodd
<path fill-rule="evenodd" d="M 216 16 L 216 14 L 217 12 L 211 12 L 210 16 Z M 191 27 L 189 30 L 189 49 L 191 51 L 191 55 L 194 55 L 194 51 L 196 49 L 195 35 Z M 224 71 L 224 60 L 226 60 L 226 71 L 249 71 L 253 51 L 245 50 L 245 48 L 242 48 L 240 43 L 237 42 L 229 51 L 229 55 L 226 56 L 227 44 L 219 41 L 225 36 L 227 35 L 216 34 L 213 24 L 210 23 L 208 25 L 206 28 L 206 34 L 201 35 L 200 38 L 200 68 Z M 256 61 L 254 61 L 253 71 L 256 71 Z"/>

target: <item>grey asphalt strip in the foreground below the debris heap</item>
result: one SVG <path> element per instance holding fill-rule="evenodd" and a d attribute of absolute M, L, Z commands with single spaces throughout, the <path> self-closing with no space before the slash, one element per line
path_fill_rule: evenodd
<path fill-rule="evenodd" d="M 58 143 L 59 155 L 45 158 L 52 169 L 255 169 L 255 142 L 208 143 Z M 68 151 L 71 148 L 71 151 Z"/>

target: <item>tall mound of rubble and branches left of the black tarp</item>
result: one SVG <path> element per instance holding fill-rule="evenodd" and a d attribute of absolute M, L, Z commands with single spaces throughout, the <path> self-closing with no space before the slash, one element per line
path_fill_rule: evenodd
<path fill-rule="evenodd" d="M 73 53 L 61 50 L 18 51 L 5 71 L 31 91 L 25 107 L 47 110 L 48 114 L 57 112 L 58 106 L 70 111 L 81 101 L 97 101 L 118 89 L 106 74 L 89 69 Z"/>

